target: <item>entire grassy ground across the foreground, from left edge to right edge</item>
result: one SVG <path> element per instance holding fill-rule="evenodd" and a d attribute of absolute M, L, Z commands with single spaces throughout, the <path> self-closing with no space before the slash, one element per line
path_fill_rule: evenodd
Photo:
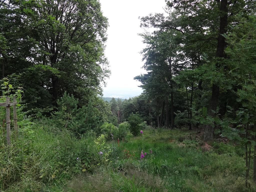
<path fill-rule="evenodd" d="M 240 146 L 215 141 L 207 151 L 195 131 L 143 132 L 120 146 L 107 143 L 111 152 L 105 161 L 94 136 L 76 138 L 40 126 L 23 130 L 11 151 L 0 147 L 1 191 L 256 191 L 252 180 L 244 187 Z M 141 160 L 142 150 L 147 154 Z M 91 167 L 77 157 L 89 159 Z"/>

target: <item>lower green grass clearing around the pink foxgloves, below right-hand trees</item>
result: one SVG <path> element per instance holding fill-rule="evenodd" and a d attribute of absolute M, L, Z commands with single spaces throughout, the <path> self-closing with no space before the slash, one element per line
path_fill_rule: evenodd
<path fill-rule="evenodd" d="M 244 187 L 245 162 L 239 146 L 213 142 L 211 150 L 204 151 L 202 145 L 196 132 L 145 130 L 142 136 L 121 142 L 119 157 L 109 165 L 73 178 L 61 190 L 256 191 L 251 180 L 251 187 Z M 147 155 L 140 161 L 142 150 Z"/>

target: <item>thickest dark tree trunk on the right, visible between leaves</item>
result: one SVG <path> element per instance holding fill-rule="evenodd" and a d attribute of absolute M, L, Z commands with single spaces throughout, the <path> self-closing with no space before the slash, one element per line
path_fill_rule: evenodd
<path fill-rule="evenodd" d="M 219 35 L 218 35 L 218 44 L 217 44 L 217 52 L 216 56 L 221 60 L 221 58 L 225 57 L 224 49 L 226 47 L 225 37 L 222 34 L 227 33 L 227 26 L 228 26 L 228 0 L 221 0 L 220 2 L 220 28 L 219 28 Z M 221 61 L 216 63 L 216 67 L 221 66 Z M 220 88 L 216 84 L 212 84 L 212 94 L 211 100 L 208 108 L 208 115 L 211 117 L 215 117 L 215 113 L 212 112 L 216 111 L 217 103 L 219 99 L 219 91 Z M 205 141 L 212 140 L 213 138 L 213 131 L 214 127 L 211 124 L 206 125 L 205 129 Z"/>

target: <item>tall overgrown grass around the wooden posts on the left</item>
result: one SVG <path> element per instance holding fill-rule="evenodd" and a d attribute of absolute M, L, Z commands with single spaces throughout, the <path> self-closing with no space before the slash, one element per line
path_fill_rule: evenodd
<path fill-rule="evenodd" d="M 81 172 L 85 162 L 80 159 L 97 165 L 99 156 L 92 137 L 77 139 L 69 131 L 52 133 L 44 128 L 34 125 L 20 130 L 12 146 L 5 144 L 1 129 L 2 191 L 44 191 L 52 184 L 63 185 L 73 174 Z"/>

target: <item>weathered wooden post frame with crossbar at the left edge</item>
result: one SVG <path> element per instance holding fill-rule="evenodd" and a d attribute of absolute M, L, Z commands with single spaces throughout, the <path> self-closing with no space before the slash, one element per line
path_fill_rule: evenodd
<path fill-rule="evenodd" d="M 16 97 L 13 96 L 13 102 L 10 103 L 10 98 L 6 98 L 5 103 L 0 103 L 0 106 L 6 107 L 6 140 L 7 144 L 11 144 L 11 120 L 10 120 L 10 106 L 13 106 L 13 121 L 14 121 L 14 133 L 18 134 L 17 112 L 16 112 Z"/>

